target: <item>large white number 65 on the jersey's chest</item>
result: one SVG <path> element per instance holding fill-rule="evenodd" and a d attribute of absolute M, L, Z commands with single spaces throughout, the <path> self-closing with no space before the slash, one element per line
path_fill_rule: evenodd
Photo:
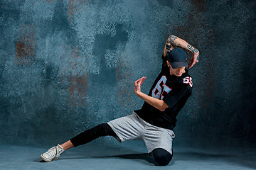
<path fill-rule="evenodd" d="M 152 90 L 152 97 L 159 98 L 162 100 L 166 96 L 166 94 L 168 94 L 169 91 L 171 91 L 171 88 L 169 88 L 169 86 L 166 86 L 166 80 L 166 76 L 161 77 L 161 79 L 157 82 L 156 86 Z M 162 89 L 164 90 L 162 91 Z"/>

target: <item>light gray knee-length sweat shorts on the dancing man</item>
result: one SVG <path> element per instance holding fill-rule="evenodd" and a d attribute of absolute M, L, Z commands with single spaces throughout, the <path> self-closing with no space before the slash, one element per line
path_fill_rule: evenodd
<path fill-rule="evenodd" d="M 149 153 L 156 148 L 162 148 L 172 154 L 174 131 L 146 123 L 136 113 L 111 120 L 107 124 L 117 134 L 119 142 L 143 140 Z"/>

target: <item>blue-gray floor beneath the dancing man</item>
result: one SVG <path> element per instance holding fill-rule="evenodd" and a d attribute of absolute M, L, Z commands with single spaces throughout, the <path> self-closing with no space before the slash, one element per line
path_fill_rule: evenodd
<path fill-rule="evenodd" d="M 168 166 L 155 166 L 140 141 L 94 141 L 64 152 L 56 161 L 41 162 L 40 155 L 49 147 L 52 146 L 0 145 L 0 169 L 256 169 L 256 149 L 250 147 L 174 147 Z"/>

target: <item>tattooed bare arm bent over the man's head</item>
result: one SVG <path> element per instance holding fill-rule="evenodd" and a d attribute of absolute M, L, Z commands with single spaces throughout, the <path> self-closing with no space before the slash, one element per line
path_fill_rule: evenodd
<path fill-rule="evenodd" d="M 169 52 L 174 49 L 174 46 L 182 47 L 182 48 L 189 50 L 193 53 L 191 62 L 188 64 L 189 69 L 191 69 L 191 67 L 193 67 L 193 65 L 198 62 L 199 50 L 194 48 L 192 45 L 188 44 L 188 42 L 186 42 L 185 40 L 182 40 L 181 38 L 176 37 L 175 35 L 170 35 L 169 38 L 167 39 L 166 45 L 164 47 L 164 57 L 168 56 Z"/>

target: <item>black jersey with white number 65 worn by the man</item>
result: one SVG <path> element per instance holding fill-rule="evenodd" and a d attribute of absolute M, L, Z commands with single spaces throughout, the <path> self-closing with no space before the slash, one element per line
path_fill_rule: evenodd
<path fill-rule="evenodd" d="M 149 96 L 163 100 L 169 108 L 159 111 L 149 103 L 144 102 L 140 110 L 134 111 L 140 118 L 151 125 L 174 130 L 176 126 L 176 116 L 185 105 L 192 92 L 192 78 L 188 74 L 188 69 L 181 77 L 170 75 L 170 69 L 166 64 L 167 57 L 162 57 L 162 69 L 153 86 L 149 91 Z"/>

